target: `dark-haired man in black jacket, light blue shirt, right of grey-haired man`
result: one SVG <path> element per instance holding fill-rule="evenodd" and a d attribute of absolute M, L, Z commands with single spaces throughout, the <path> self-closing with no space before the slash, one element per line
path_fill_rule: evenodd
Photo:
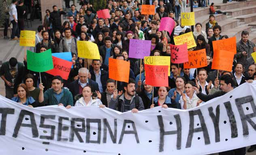
<path fill-rule="evenodd" d="M 102 93 L 106 90 L 106 81 L 109 79 L 109 74 L 105 70 L 100 69 L 101 62 L 100 60 L 92 60 L 92 67 L 93 70 L 90 71 L 91 73 L 91 80 L 96 81 L 99 86 L 99 91 Z"/>

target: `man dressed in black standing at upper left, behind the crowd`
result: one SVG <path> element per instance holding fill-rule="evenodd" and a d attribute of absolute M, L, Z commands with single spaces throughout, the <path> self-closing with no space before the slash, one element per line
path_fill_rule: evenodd
<path fill-rule="evenodd" d="M 50 25 L 52 24 L 53 31 L 55 32 L 56 30 L 62 29 L 61 15 L 66 14 L 66 12 L 64 12 L 62 8 L 60 9 L 60 11 L 58 11 L 58 8 L 56 5 L 53 5 L 52 8 L 53 8 L 53 12 L 51 12 L 50 14 L 48 29 L 50 29 Z"/>

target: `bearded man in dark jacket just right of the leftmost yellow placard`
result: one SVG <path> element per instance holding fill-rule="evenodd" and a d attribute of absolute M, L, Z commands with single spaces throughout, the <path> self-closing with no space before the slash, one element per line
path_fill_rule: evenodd
<path fill-rule="evenodd" d="M 41 45 L 47 47 L 47 50 L 51 49 L 51 52 L 53 52 L 53 41 L 49 39 L 48 31 L 42 31 L 42 36 L 43 40 L 36 44 L 36 53 L 40 53 Z"/>

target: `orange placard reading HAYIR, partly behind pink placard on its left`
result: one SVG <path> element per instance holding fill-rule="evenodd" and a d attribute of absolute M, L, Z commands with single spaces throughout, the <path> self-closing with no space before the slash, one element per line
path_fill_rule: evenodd
<path fill-rule="evenodd" d="M 184 68 L 201 68 L 207 66 L 205 48 L 197 51 L 188 51 L 188 62 Z"/>

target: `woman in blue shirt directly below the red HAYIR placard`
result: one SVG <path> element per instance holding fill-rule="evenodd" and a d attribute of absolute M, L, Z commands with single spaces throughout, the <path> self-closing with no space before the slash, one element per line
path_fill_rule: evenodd
<path fill-rule="evenodd" d="M 154 104 L 150 105 L 150 108 L 162 106 L 163 108 L 176 108 L 174 99 L 171 99 L 168 95 L 168 87 L 159 87 L 158 97 L 154 97 Z"/>

